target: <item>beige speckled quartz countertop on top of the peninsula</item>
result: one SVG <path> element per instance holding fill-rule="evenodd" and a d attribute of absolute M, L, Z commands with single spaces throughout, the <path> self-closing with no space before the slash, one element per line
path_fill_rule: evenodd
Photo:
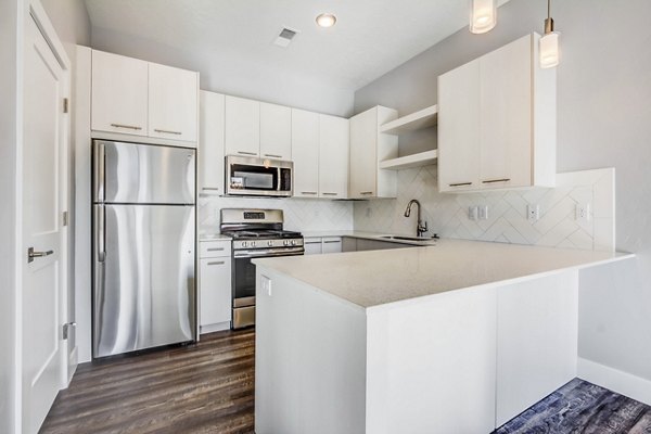
<path fill-rule="evenodd" d="M 371 308 L 465 288 L 515 283 L 630 257 L 634 255 L 443 239 L 435 246 L 419 248 L 253 261 Z"/>

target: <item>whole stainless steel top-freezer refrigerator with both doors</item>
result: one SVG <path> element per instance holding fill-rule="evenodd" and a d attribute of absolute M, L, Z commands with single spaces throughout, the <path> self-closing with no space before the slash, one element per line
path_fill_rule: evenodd
<path fill-rule="evenodd" d="M 195 151 L 94 140 L 93 357 L 195 340 Z"/>

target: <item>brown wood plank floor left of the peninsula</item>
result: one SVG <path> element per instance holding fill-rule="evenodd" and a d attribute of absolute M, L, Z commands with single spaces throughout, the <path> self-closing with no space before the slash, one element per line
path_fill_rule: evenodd
<path fill-rule="evenodd" d="M 41 433 L 253 433 L 255 332 L 79 366 Z"/>

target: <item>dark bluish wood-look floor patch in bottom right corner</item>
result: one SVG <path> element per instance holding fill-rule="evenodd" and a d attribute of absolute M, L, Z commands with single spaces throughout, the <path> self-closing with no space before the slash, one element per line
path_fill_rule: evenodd
<path fill-rule="evenodd" d="M 495 433 L 649 434 L 651 407 L 574 379 Z"/>

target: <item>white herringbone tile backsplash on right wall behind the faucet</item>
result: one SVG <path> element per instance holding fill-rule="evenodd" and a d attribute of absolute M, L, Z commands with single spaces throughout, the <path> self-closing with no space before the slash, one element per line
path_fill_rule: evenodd
<path fill-rule="evenodd" d="M 416 213 L 404 216 L 417 199 L 430 232 L 445 238 L 533 244 L 584 250 L 613 250 L 614 169 L 559 174 L 557 188 L 484 193 L 441 194 L 436 166 L 398 173 L 398 197 L 355 203 L 355 230 L 416 234 Z M 527 204 L 537 204 L 538 221 L 526 218 Z M 577 204 L 590 205 L 588 221 L 576 219 Z M 488 206 L 488 219 L 470 220 L 469 206 Z M 598 217 L 598 218 L 596 218 Z"/>

